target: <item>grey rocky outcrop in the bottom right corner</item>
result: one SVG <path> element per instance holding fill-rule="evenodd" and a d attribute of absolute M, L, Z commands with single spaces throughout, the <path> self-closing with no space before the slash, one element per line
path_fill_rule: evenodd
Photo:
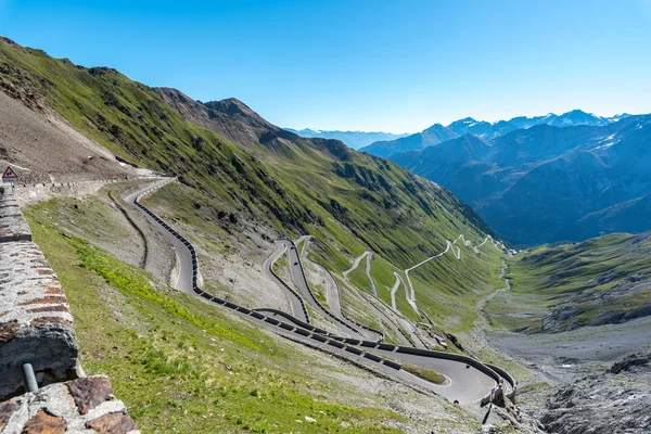
<path fill-rule="evenodd" d="M 651 353 L 646 353 L 566 385 L 547 399 L 540 420 L 550 433 L 649 433 L 649 408 Z"/>

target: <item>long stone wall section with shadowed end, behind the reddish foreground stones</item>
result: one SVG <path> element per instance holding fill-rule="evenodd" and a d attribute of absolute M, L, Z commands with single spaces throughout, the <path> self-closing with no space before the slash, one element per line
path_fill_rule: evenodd
<path fill-rule="evenodd" d="M 0 399 L 25 392 L 23 363 L 39 384 L 79 376 L 67 298 L 15 200 L 0 200 Z M 9 212 L 8 212 L 9 210 Z"/>

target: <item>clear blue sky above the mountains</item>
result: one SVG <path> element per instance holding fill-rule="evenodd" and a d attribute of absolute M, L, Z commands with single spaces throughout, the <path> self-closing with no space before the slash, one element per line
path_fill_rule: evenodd
<path fill-rule="evenodd" d="M 651 112 L 651 0 L 0 0 L 0 35 L 284 127 Z"/>

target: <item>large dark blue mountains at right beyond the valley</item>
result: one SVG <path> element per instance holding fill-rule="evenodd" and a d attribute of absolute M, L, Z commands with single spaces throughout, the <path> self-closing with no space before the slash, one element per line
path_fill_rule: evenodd
<path fill-rule="evenodd" d="M 651 230 L 650 142 L 651 115 L 636 115 L 604 126 L 540 124 L 473 153 L 452 140 L 391 158 L 449 188 L 508 241 L 534 245 Z"/>

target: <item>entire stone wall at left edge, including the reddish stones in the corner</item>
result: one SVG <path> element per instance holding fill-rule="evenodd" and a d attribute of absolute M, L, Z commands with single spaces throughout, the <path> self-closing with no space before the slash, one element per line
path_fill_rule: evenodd
<path fill-rule="evenodd" d="M 104 376 L 86 378 L 67 298 L 13 196 L 0 191 L 0 433 L 136 432 Z M 23 365 L 40 387 L 29 393 Z"/>

